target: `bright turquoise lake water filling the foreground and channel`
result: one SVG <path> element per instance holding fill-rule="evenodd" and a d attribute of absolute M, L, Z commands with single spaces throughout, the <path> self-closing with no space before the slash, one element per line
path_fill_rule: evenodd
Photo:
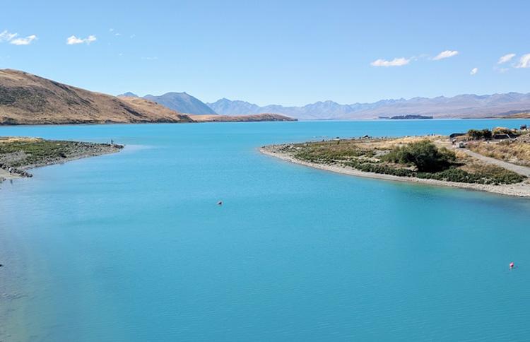
<path fill-rule="evenodd" d="M 257 151 L 519 123 L 0 127 L 127 145 L 0 185 L 0 341 L 528 341 L 529 200 Z"/>

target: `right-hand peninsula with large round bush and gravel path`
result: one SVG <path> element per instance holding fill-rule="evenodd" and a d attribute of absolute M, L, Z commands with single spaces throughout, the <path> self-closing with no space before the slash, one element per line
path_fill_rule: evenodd
<path fill-rule="evenodd" d="M 291 163 L 346 175 L 530 197 L 530 167 L 526 166 L 530 160 L 525 160 L 530 158 L 530 133 L 518 131 L 506 139 L 492 132 L 485 134 L 490 138 L 476 136 L 476 132 L 484 131 L 488 130 L 470 130 L 458 138 L 337 137 L 263 146 L 260 151 Z"/>

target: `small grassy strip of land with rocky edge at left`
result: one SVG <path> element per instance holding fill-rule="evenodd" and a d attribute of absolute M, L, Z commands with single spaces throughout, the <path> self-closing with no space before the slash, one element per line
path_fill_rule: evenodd
<path fill-rule="evenodd" d="M 4 175 L 31 177 L 32 167 L 64 163 L 68 160 L 114 153 L 124 146 L 114 143 L 54 141 L 42 138 L 0 138 L 0 169 Z"/>

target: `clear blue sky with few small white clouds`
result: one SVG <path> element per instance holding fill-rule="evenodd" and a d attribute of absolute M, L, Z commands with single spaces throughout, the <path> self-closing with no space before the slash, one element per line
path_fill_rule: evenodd
<path fill-rule="evenodd" d="M 258 105 L 530 92 L 530 1 L 1 1 L 0 69 Z"/>

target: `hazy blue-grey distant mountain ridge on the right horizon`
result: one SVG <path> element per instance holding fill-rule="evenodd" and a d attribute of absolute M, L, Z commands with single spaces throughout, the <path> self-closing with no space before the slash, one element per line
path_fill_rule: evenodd
<path fill-rule="evenodd" d="M 297 119 L 375 119 L 396 115 L 428 115 L 435 118 L 502 117 L 510 112 L 530 110 L 530 93 L 504 93 L 493 95 L 457 95 L 452 98 L 411 98 L 379 100 L 372 103 L 341 105 L 334 101 L 319 101 L 302 107 L 266 105 L 260 107 L 250 102 L 222 98 L 207 103 L 215 112 L 224 115 L 259 114 L 263 112 L 284 114 Z"/>

